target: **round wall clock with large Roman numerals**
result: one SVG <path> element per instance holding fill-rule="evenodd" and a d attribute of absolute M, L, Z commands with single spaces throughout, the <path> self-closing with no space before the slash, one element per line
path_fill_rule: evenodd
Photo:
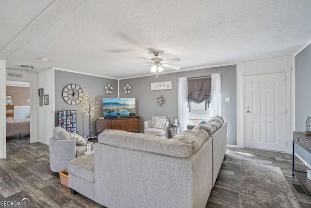
<path fill-rule="evenodd" d="M 63 89 L 63 99 L 69 105 L 77 105 L 83 99 L 83 90 L 79 85 L 69 84 Z"/>

